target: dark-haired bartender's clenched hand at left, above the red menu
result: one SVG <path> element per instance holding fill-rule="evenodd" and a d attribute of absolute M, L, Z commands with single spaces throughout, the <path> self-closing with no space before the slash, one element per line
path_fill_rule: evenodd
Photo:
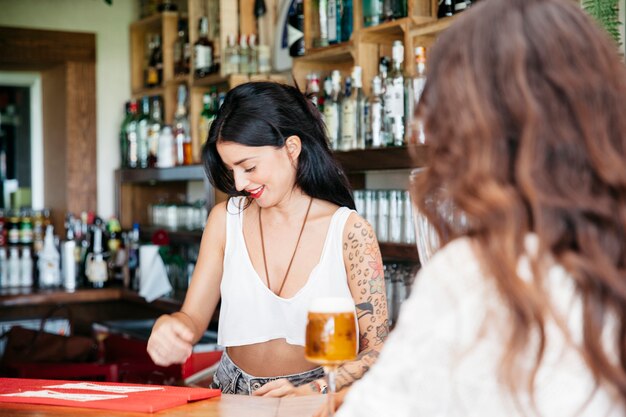
<path fill-rule="evenodd" d="M 175 315 L 164 315 L 152 328 L 148 354 L 159 366 L 183 363 L 191 356 L 193 339 L 194 332 L 189 324 Z"/>

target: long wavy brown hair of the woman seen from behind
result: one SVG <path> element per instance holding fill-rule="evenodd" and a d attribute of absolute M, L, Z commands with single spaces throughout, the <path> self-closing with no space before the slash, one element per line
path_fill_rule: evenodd
<path fill-rule="evenodd" d="M 468 216 L 510 312 L 500 366 L 508 385 L 532 393 L 548 343 L 547 277 L 539 260 L 533 281 L 517 274 L 532 232 L 542 260 L 572 277 L 590 373 L 626 404 L 626 68 L 576 2 L 472 8 L 429 54 L 418 110 L 432 152 L 419 188 L 444 187 Z M 532 370 L 523 364 L 529 351 Z"/>

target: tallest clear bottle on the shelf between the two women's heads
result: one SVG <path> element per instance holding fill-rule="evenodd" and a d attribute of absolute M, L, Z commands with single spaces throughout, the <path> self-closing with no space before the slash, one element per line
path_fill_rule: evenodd
<path fill-rule="evenodd" d="M 392 48 L 392 69 L 385 84 L 385 113 L 391 120 L 390 145 L 404 144 L 404 46 L 401 41 L 394 41 Z"/>

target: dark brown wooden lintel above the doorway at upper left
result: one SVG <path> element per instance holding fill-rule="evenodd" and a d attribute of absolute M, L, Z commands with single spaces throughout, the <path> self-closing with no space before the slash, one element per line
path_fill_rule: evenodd
<path fill-rule="evenodd" d="M 96 36 L 0 27 L 0 65 L 49 67 L 67 61 L 95 62 Z"/>

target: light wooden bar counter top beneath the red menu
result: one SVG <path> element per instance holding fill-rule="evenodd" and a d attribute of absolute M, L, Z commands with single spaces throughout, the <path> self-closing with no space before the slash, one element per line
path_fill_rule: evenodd
<path fill-rule="evenodd" d="M 88 408 L 30 404 L 0 404 L 0 417 L 309 417 L 322 406 L 324 395 L 291 398 L 265 398 L 222 395 L 157 413 L 135 413 Z"/>

